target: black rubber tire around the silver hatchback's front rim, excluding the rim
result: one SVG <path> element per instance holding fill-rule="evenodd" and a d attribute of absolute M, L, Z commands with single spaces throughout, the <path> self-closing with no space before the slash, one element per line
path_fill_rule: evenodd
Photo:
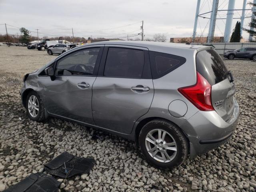
<path fill-rule="evenodd" d="M 35 117 L 33 117 L 30 114 L 29 110 L 28 110 L 28 100 L 29 100 L 30 96 L 35 96 L 36 99 L 38 100 L 38 104 L 39 104 L 38 114 Z M 37 122 L 42 122 L 43 120 L 45 120 L 44 104 L 43 104 L 40 96 L 35 91 L 31 91 L 27 95 L 27 98 L 26 98 L 26 110 L 27 110 L 28 118 L 30 118 L 30 120 L 37 121 Z"/>

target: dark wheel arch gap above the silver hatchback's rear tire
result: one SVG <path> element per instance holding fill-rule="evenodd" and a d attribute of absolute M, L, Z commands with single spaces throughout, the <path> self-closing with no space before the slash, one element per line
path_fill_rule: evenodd
<path fill-rule="evenodd" d="M 168 120 L 168 119 L 166 119 L 166 118 L 160 118 L 160 117 L 148 117 L 148 118 L 145 118 L 145 119 L 141 120 L 141 121 L 138 123 L 138 125 L 137 125 L 136 128 L 135 128 L 135 143 L 136 143 L 137 146 L 138 146 L 139 134 L 140 134 L 140 131 L 141 131 L 142 127 L 143 127 L 144 125 L 146 125 L 148 122 L 150 122 L 150 121 L 152 121 L 152 120 L 156 120 L 156 119 L 168 121 L 168 122 L 174 124 L 174 125 L 184 134 L 185 139 L 186 139 L 186 141 L 187 141 L 187 143 L 188 143 L 188 152 L 190 152 L 190 145 L 189 145 L 190 141 L 189 141 L 189 139 L 188 139 L 187 134 L 184 132 L 184 130 L 182 130 L 182 129 L 180 128 L 180 126 L 178 126 L 176 123 L 174 123 L 174 122 L 172 122 L 172 121 L 170 121 L 170 120 Z"/>

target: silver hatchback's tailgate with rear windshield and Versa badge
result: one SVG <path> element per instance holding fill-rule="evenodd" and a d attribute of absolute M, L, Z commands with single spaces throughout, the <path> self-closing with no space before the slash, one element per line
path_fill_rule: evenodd
<path fill-rule="evenodd" d="M 214 49 L 199 51 L 196 70 L 212 85 L 212 106 L 228 120 L 234 111 L 236 88 L 220 55 Z"/>

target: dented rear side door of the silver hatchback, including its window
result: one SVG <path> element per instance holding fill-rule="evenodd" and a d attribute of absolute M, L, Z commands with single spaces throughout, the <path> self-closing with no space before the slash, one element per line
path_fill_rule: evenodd
<path fill-rule="evenodd" d="M 130 134 L 154 96 L 148 49 L 105 46 L 92 92 L 95 124 Z"/>

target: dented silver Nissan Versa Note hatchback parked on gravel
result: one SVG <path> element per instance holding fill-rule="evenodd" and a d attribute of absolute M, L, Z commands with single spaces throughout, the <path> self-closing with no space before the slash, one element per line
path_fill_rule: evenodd
<path fill-rule="evenodd" d="M 239 116 L 234 80 L 209 46 L 112 41 L 80 46 L 24 76 L 28 117 L 134 140 L 157 168 L 226 142 Z"/>

